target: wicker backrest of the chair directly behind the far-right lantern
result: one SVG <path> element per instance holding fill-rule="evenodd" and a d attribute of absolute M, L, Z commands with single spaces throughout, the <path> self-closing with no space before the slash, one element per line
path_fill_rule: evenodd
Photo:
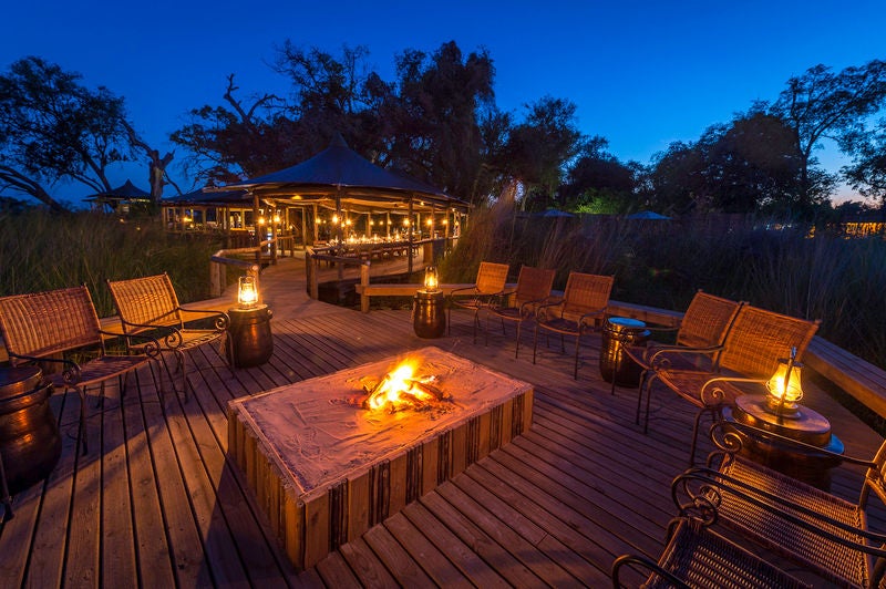
<path fill-rule="evenodd" d="M 720 366 L 751 379 L 769 379 L 792 348 L 797 360 L 803 356 L 818 323 L 743 304 L 727 333 Z"/>

